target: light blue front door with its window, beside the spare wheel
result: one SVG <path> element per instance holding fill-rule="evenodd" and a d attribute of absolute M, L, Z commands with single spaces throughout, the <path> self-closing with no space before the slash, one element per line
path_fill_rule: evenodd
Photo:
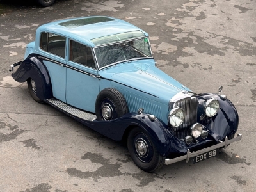
<path fill-rule="evenodd" d="M 69 40 L 66 71 L 67 103 L 95 113 L 95 101 L 99 94 L 98 71 L 92 49 L 74 40 Z"/>

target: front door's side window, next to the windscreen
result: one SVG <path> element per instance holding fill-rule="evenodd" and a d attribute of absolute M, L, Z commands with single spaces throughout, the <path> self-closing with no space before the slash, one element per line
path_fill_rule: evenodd
<path fill-rule="evenodd" d="M 92 56 L 92 50 L 90 47 L 86 47 L 83 44 L 79 44 L 73 40 L 70 40 L 70 52 L 69 60 L 76 63 L 80 63 L 87 67 L 96 68 Z"/>

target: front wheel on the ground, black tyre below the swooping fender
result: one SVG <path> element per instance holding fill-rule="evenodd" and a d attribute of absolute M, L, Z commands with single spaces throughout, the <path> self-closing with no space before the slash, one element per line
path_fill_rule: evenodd
<path fill-rule="evenodd" d="M 145 172 L 154 172 L 164 164 L 165 157 L 157 152 L 147 132 L 140 127 L 129 133 L 127 147 L 136 166 Z"/>

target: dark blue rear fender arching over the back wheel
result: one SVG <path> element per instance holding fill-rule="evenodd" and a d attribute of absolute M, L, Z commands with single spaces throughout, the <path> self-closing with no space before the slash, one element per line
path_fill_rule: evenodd
<path fill-rule="evenodd" d="M 12 77 L 20 83 L 29 78 L 34 79 L 36 87 L 38 87 L 36 96 L 41 100 L 52 98 L 51 79 L 47 68 L 38 56 L 30 55 L 22 61 Z"/>

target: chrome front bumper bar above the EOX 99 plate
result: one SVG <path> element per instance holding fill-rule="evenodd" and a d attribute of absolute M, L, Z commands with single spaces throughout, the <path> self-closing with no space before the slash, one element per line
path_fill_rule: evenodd
<path fill-rule="evenodd" d="M 176 163 L 178 161 L 182 161 L 182 160 L 185 160 L 185 159 L 186 159 L 186 162 L 188 163 L 188 161 L 189 161 L 189 159 L 191 157 L 195 157 L 195 156 L 198 156 L 200 154 L 204 154 L 205 152 L 209 152 L 209 151 L 217 149 L 217 148 L 221 148 L 221 147 L 227 148 L 228 144 L 233 143 L 234 141 L 239 141 L 241 139 L 242 139 L 242 134 L 237 134 L 236 138 L 228 140 L 228 138 L 226 137 L 225 141 L 219 141 L 219 143 L 216 144 L 216 145 L 212 145 L 211 147 L 207 147 L 207 148 L 204 148 L 202 150 L 198 150 L 196 152 L 192 152 L 191 153 L 190 150 L 188 149 L 186 155 L 180 156 L 180 157 L 176 157 L 174 159 L 165 159 L 165 163 L 164 164 L 172 164 L 172 163 Z"/>

